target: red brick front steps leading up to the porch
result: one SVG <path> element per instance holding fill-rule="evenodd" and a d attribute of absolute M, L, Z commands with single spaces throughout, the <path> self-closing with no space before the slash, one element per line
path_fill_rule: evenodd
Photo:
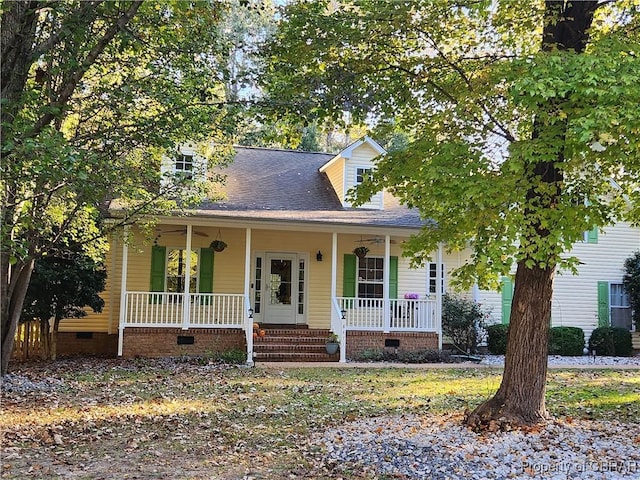
<path fill-rule="evenodd" d="M 280 327 L 280 325 L 278 325 Z M 328 329 L 300 327 L 272 328 L 263 326 L 264 337 L 253 341 L 253 358 L 260 362 L 337 362 L 340 352 L 329 355 L 325 350 Z"/>

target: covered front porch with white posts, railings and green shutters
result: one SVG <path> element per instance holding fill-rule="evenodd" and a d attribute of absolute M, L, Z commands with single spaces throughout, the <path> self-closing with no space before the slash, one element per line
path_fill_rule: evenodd
<path fill-rule="evenodd" d="M 163 341 L 185 345 L 191 333 L 206 331 L 229 334 L 234 345 L 241 341 L 251 363 L 255 323 L 328 329 L 340 340 L 342 362 L 354 348 L 349 343 L 362 337 L 356 332 L 429 333 L 437 336 L 437 348 L 442 346 L 441 289 L 428 291 L 430 282 L 443 281 L 442 251 L 434 255 L 437 268 L 431 272 L 409 270 L 398 260 L 408 232 L 318 231 L 285 224 L 275 230 L 230 223 L 162 224 L 156 231 L 150 246 L 121 246 L 120 356 L 136 354 L 126 344 L 134 337 L 140 342 L 140 332 L 162 331 Z M 210 251 L 219 237 L 229 247 Z M 368 243 L 365 259 L 358 259 L 353 249 L 363 238 L 375 242 Z M 162 256 L 163 263 L 154 263 Z M 150 286 L 139 288 L 145 278 Z M 169 331 L 175 339 L 168 339 Z"/>

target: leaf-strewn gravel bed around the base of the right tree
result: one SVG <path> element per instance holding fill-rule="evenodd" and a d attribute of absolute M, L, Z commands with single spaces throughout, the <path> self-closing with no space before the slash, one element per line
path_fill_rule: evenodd
<path fill-rule="evenodd" d="M 477 434 L 460 418 L 366 419 L 314 439 L 337 469 L 402 479 L 640 478 L 640 425 L 566 419 Z"/>

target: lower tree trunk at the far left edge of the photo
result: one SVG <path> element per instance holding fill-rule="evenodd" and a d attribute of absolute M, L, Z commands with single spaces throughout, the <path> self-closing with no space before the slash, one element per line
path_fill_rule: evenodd
<path fill-rule="evenodd" d="M 20 320 L 22 305 L 27 295 L 31 273 L 33 272 L 34 260 L 25 263 L 17 263 L 12 267 L 8 265 L 8 258 L 3 253 L 2 259 L 2 285 L 7 285 L 6 295 L 2 296 L 2 355 L 0 363 L 0 375 L 7 374 L 9 360 L 13 353 L 13 343 L 16 336 L 16 328 Z M 6 275 L 6 278 L 5 278 Z M 2 289 L 3 294 L 5 288 Z"/>

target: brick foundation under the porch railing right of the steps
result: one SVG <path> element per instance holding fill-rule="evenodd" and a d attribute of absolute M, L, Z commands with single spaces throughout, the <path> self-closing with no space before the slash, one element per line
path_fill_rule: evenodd
<path fill-rule="evenodd" d="M 397 340 L 397 347 L 385 347 L 386 340 Z M 396 342 L 391 342 L 396 343 Z M 438 350 L 438 334 L 427 332 L 347 332 L 347 358 L 357 358 L 365 350 L 388 350 L 395 352 Z"/>

